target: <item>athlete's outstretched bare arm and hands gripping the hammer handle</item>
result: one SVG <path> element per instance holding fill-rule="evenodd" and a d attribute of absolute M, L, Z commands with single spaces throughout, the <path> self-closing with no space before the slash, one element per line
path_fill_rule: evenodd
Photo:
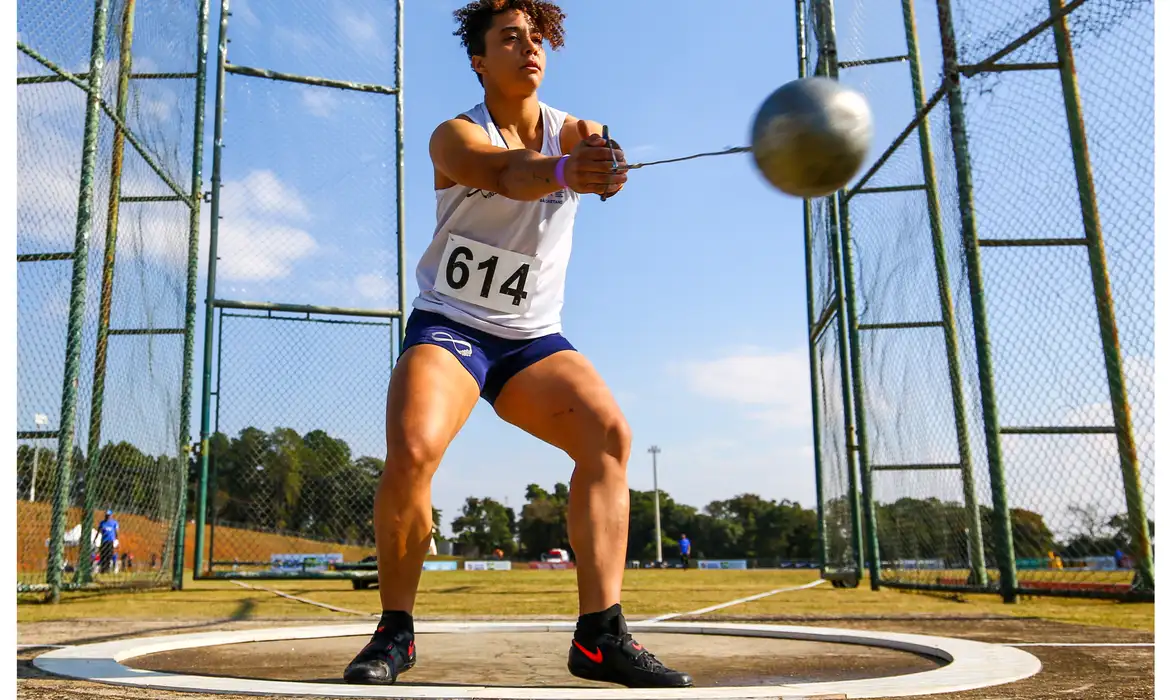
<path fill-rule="evenodd" d="M 613 192 L 626 181 L 626 173 L 613 172 L 610 149 L 601 138 L 579 139 L 565 163 L 565 181 L 586 194 Z M 615 152 L 619 164 L 625 156 Z M 562 190 L 557 183 L 557 160 L 529 149 L 501 149 L 491 145 L 482 128 L 463 119 L 449 119 L 431 136 L 431 159 L 435 169 L 464 187 L 496 192 L 508 199 L 530 201 Z"/>

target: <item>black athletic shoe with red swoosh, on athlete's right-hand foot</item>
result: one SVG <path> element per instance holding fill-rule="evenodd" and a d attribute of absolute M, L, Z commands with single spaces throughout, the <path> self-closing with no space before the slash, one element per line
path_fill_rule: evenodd
<path fill-rule="evenodd" d="M 620 634 L 600 634 L 593 644 L 573 639 L 569 647 L 569 672 L 585 680 L 614 682 L 627 688 L 689 688 L 695 685 L 690 675 L 663 666 L 625 630 Z"/>

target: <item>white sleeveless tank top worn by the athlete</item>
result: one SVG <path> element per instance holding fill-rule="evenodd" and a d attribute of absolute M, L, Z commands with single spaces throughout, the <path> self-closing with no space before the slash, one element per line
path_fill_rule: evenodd
<path fill-rule="evenodd" d="M 507 149 L 483 103 L 464 112 Z M 541 103 L 541 153 L 560 156 L 565 112 Z M 509 339 L 560 332 L 565 272 L 580 195 L 517 201 L 463 185 L 436 190 L 434 238 L 419 260 L 414 308 Z"/>

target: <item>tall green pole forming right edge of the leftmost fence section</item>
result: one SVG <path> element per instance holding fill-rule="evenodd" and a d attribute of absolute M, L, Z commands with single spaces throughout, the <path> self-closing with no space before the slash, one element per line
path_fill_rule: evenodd
<path fill-rule="evenodd" d="M 192 140 L 191 158 L 191 227 L 187 240 L 187 307 L 184 315 L 183 336 L 183 397 L 179 410 L 179 457 L 183 460 L 183 488 L 179 492 L 178 528 L 174 534 L 178 547 L 176 557 L 180 564 L 186 558 L 187 541 L 187 462 L 191 458 L 191 400 L 194 383 L 194 359 L 195 359 L 195 315 L 198 310 L 197 289 L 199 286 L 199 210 L 202 203 L 204 188 L 204 115 L 207 102 L 207 32 L 208 32 L 209 0 L 199 2 L 199 26 L 195 29 L 195 125 Z M 202 452 L 200 449 L 200 452 Z M 200 457 L 200 461 L 202 458 Z M 202 523 L 198 522 L 195 537 L 202 534 Z M 198 564 L 195 568 L 198 571 Z M 183 568 L 180 565 L 178 576 L 172 585 L 183 588 Z"/>

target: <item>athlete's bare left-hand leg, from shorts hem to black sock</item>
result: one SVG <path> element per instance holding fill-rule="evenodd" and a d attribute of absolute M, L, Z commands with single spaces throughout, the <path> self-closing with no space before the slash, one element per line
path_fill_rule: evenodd
<path fill-rule="evenodd" d="M 383 610 L 414 610 L 431 541 L 431 479 L 479 398 L 479 384 L 442 348 L 414 345 L 394 368 L 386 394 L 386 468 L 373 505 Z"/>

